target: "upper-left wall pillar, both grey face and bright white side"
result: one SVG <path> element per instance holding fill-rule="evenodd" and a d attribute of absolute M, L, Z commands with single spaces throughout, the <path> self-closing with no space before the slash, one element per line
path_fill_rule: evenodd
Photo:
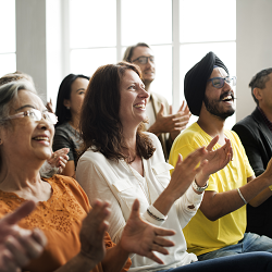
<path fill-rule="evenodd" d="M 16 70 L 32 75 L 41 98 L 53 104 L 66 74 L 63 1 L 16 0 Z"/>

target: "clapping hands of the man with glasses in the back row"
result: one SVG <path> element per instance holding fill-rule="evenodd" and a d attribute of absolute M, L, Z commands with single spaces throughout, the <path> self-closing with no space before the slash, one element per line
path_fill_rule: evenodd
<path fill-rule="evenodd" d="M 156 122 L 149 127 L 149 132 L 159 136 L 161 133 L 171 133 L 171 138 L 174 139 L 181 131 L 183 131 L 190 118 L 188 107 L 184 108 L 184 102 L 176 114 L 164 115 L 164 104 L 161 103 L 161 109 L 157 114 Z M 171 110 L 172 111 L 172 110 Z"/>

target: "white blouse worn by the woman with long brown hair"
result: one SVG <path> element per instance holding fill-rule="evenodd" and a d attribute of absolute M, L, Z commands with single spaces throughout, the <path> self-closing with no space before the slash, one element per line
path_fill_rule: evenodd
<path fill-rule="evenodd" d="M 200 206 L 203 194 L 196 194 L 191 186 L 187 191 L 175 201 L 170 209 L 168 217 L 163 217 L 152 203 L 168 186 L 171 176 L 172 165 L 164 161 L 163 151 L 158 137 L 148 133 L 156 151 L 153 156 L 145 160 L 144 177 L 124 160 L 119 162 L 108 160 L 102 153 L 94 152 L 88 149 L 78 160 L 76 169 L 76 180 L 86 191 L 90 205 L 91 200 L 100 198 L 111 202 L 111 214 L 109 218 L 109 234 L 114 243 L 121 238 L 123 227 L 131 214 L 134 200 L 137 198 L 140 202 L 141 217 L 156 225 L 162 225 L 176 232 L 174 236 L 168 237 L 175 243 L 174 247 L 168 248 L 169 255 L 164 256 L 156 252 L 162 259 L 164 264 L 138 255 L 132 258 L 129 271 L 157 271 L 170 268 L 176 268 L 197 261 L 194 254 L 186 252 L 187 246 L 183 235 L 183 227 L 196 214 Z M 195 206 L 189 209 L 189 206 Z M 165 218 L 165 221 L 157 221 L 151 218 L 147 209 L 158 218 Z"/>

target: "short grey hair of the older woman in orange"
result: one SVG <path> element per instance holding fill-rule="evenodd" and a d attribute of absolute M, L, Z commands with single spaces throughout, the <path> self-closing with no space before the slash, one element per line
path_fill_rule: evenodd
<path fill-rule="evenodd" d="M 0 126 L 7 123 L 11 102 L 14 98 L 17 98 L 18 90 L 21 89 L 26 89 L 37 94 L 34 85 L 27 81 L 11 82 L 0 86 Z"/>

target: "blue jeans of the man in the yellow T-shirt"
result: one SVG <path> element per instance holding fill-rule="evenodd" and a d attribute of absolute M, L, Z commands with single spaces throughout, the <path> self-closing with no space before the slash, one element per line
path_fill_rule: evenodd
<path fill-rule="evenodd" d="M 210 260 L 219 257 L 234 256 L 238 254 L 267 251 L 272 252 L 272 239 L 255 233 L 245 233 L 244 239 L 239 240 L 236 245 L 223 247 L 218 250 L 199 255 L 199 261 Z"/>

